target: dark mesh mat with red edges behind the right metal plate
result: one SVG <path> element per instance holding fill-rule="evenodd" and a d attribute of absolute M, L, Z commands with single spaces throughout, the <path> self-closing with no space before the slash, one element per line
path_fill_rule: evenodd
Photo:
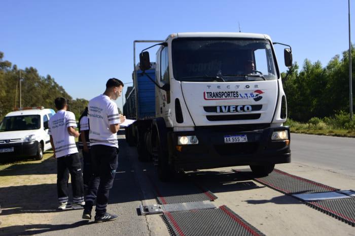
<path fill-rule="evenodd" d="M 234 170 L 237 173 L 245 173 Z M 292 175 L 281 170 L 274 169 L 268 176 L 254 178 L 255 181 L 273 188 L 283 194 L 312 194 L 322 192 L 332 192 L 339 190 L 322 183 Z"/>

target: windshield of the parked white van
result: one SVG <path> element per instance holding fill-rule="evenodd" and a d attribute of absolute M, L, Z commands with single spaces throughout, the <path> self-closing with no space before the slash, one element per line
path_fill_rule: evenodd
<path fill-rule="evenodd" d="M 41 127 L 39 115 L 4 117 L 0 125 L 0 132 L 39 129 Z"/>

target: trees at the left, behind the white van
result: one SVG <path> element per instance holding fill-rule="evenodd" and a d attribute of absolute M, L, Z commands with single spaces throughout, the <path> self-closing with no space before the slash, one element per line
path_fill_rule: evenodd
<path fill-rule="evenodd" d="M 9 61 L 4 61 L 4 53 L 0 52 L 0 119 L 12 111 L 14 107 L 19 106 L 19 69 Z M 72 97 L 55 82 L 50 75 L 40 76 L 38 71 L 33 68 L 21 70 L 21 102 L 22 107 L 44 106 L 54 109 L 54 99 L 64 97 L 72 100 Z M 87 106 L 85 99 L 76 99 L 70 102 L 72 110 L 77 119 L 81 112 Z M 78 116 L 79 115 L 79 116 Z"/>

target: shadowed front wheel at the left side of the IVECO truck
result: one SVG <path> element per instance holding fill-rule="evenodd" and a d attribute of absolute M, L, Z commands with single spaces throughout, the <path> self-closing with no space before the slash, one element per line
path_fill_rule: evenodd
<path fill-rule="evenodd" d="M 168 154 L 163 151 L 159 137 L 157 135 L 157 148 L 158 148 L 158 177 L 162 182 L 171 181 L 174 178 L 175 172 L 169 165 Z"/>

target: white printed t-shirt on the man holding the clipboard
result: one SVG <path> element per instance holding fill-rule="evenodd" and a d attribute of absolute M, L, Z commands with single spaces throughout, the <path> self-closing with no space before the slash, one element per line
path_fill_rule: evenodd
<path fill-rule="evenodd" d="M 118 148 L 117 133 L 110 130 L 111 124 L 119 124 L 117 105 L 106 95 L 90 100 L 88 105 L 90 123 L 90 146 L 106 145 Z"/>

